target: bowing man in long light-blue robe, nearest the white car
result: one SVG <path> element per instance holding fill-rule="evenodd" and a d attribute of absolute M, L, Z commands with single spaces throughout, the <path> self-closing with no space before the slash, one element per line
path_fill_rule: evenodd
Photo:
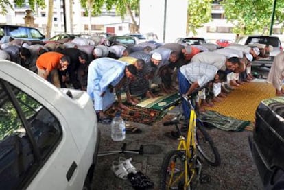
<path fill-rule="evenodd" d="M 113 88 L 121 88 L 126 78 L 134 79 L 136 68 L 113 58 L 97 58 L 88 67 L 87 93 L 94 102 L 99 121 L 109 121 L 104 110 L 115 102 Z"/>

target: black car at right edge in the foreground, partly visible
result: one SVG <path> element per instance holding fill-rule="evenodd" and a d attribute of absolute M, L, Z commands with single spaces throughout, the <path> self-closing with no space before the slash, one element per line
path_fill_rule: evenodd
<path fill-rule="evenodd" d="M 264 189 L 284 189 L 284 97 L 264 99 L 255 112 L 250 150 Z"/>

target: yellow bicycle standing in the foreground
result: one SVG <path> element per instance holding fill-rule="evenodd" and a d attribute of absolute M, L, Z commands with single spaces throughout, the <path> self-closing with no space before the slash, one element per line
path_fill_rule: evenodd
<path fill-rule="evenodd" d="M 177 150 L 171 150 L 163 158 L 161 189 L 193 189 L 197 185 L 194 182 L 209 182 L 209 176 L 201 173 L 202 163 L 198 152 L 210 165 L 220 165 L 220 154 L 202 122 L 197 119 L 191 99 L 183 98 L 190 107 L 187 139 L 182 136 L 181 127 L 178 127 L 182 124 L 180 115 L 172 121 L 163 123 L 164 126 L 176 126 L 180 137 Z"/>

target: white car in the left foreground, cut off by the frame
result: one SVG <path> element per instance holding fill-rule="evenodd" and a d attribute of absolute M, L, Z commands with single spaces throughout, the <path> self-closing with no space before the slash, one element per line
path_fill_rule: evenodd
<path fill-rule="evenodd" d="M 84 91 L 0 60 L 0 189 L 91 189 L 99 129 Z"/>

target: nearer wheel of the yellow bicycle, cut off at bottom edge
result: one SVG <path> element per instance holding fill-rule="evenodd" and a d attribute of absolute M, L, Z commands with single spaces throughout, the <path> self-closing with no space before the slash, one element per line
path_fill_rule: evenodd
<path fill-rule="evenodd" d="M 188 171 L 189 170 L 190 169 L 188 168 Z M 185 152 L 182 150 L 172 150 L 171 152 L 168 152 L 163 159 L 160 189 L 185 189 L 184 187 Z M 191 189 L 191 185 L 186 189 Z"/>

